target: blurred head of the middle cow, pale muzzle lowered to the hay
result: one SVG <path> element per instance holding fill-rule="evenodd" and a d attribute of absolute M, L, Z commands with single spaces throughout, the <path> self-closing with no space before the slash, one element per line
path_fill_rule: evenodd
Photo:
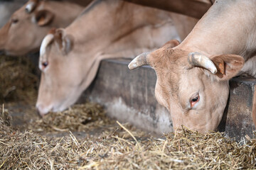
<path fill-rule="evenodd" d="M 50 30 L 43 39 L 39 59 L 41 82 L 36 102 L 40 115 L 68 108 L 78 100 L 87 82 L 94 79 L 92 75 L 96 74 L 96 65 L 100 62 L 84 57 L 90 52 L 80 57 L 74 43 L 75 38 L 63 28 Z"/>

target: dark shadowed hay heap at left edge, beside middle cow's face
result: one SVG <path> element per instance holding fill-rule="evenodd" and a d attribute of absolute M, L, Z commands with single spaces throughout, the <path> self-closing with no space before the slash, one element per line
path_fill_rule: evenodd
<path fill-rule="evenodd" d="M 28 57 L 0 56 L 0 103 L 35 100 L 35 69 Z"/>

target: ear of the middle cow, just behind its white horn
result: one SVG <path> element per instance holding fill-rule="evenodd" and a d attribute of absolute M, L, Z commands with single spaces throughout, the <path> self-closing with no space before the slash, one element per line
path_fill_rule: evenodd
<path fill-rule="evenodd" d="M 67 35 L 63 28 L 58 28 L 56 30 L 55 36 L 56 42 L 58 43 L 58 47 L 63 55 L 67 55 L 73 47 L 73 37 L 71 35 Z"/>

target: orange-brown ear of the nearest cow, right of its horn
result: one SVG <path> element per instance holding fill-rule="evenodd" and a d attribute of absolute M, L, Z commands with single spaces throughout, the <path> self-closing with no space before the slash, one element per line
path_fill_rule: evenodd
<path fill-rule="evenodd" d="M 235 77 L 245 64 L 245 60 L 240 55 L 216 55 L 211 57 L 211 60 L 218 70 L 215 75 L 220 81 Z"/>

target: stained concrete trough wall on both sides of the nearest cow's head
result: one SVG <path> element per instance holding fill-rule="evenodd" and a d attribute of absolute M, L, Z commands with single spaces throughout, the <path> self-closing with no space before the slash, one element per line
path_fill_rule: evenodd
<path fill-rule="evenodd" d="M 156 74 L 151 67 L 130 71 L 129 61 L 104 60 L 95 81 L 85 91 L 81 101 L 101 103 L 107 114 L 138 128 L 161 134 L 171 132 L 171 116 L 154 97 Z M 236 140 L 252 137 L 252 98 L 256 79 L 235 78 L 230 81 L 230 98 L 219 130 Z"/>

